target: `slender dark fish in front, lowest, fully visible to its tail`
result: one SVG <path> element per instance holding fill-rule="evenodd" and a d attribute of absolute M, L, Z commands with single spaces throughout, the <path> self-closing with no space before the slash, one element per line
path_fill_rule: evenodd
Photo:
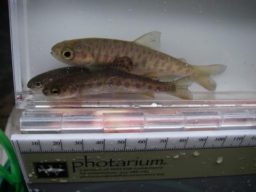
<path fill-rule="evenodd" d="M 118 70 L 97 70 L 90 73 L 76 73 L 48 83 L 43 94 L 56 98 L 79 98 L 83 95 L 135 93 L 154 98 L 155 93 L 170 94 L 181 99 L 193 99 L 188 87 L 193 76 L 186 76 L 174 82 L 160 82 L 148 77 L 129 74 Z"/>

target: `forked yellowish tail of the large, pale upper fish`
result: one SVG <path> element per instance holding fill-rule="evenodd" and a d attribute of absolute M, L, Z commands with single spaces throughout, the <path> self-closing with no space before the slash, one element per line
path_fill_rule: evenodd
<path fill-rule="evenodd" d="M 214 64 L 208 66 L 193 66 L 197 73 L 195 75 L 195 81 L 205 87 L 207 90 L 214 91 L 216 89 L 216 82 L 210 77 L 210 75 L 222 74 L 227 66 L 221 64 Z"/>

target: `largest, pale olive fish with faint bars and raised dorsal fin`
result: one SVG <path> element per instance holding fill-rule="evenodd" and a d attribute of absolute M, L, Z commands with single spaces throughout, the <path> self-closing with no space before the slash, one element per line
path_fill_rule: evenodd
<path fill-rule="evenodd" d="M 54 58 L 71 66 L 110 67 L 127 73 L 163 81 L 173 75 L 195 77 L 207 90 L 214 91 L 217 84 L 210 75 L 226 70 L 225 65 L 190 65 L 185 59 L 174 58 L 159 51 L 159 31 L 152 31 L 134 41 L 108 38 L 82 38 L 62 41 L 52 46 Z"/>

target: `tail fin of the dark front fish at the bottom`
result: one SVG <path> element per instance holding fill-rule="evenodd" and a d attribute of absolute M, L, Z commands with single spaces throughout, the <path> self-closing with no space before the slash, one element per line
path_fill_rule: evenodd
<path fill-rule="evenodd" d="M 194 76 L 186 76 L 180 78 L 173 83 L 176 85 L 175 91 L 172 93 L 173 96 L 181 99 L 193 99 L 193 95 L 188 90 L 188 87 L 195 81 Z"/>

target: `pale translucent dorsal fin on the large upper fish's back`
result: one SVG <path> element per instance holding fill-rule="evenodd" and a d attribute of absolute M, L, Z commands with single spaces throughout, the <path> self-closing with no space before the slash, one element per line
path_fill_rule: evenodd
<path fill-rule="evenodd" d="M 161 33 L 159 31 L 152 31 L 145 35 L 140 36 L 139 38 L 135 39 L 133 42 L 147 46 L 156 51 L 159 51 L 160 44 L 161 44 L 160 36 L 161 36 Z"/>

